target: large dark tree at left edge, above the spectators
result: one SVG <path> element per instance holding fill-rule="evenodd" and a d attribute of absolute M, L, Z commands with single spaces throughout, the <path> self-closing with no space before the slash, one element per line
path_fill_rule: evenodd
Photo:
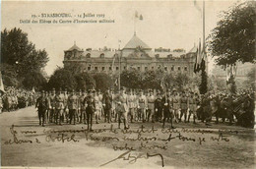
<path fill-rule="evenodd" d="M 28 34 L 22 29 L 5 28 L 1 31 L 1 65 L 9 65 L 8 68 L 17 74 L 18 85 L 22 85 L 31 72 L 40 73 L 47 62 L 46 51 L 36 50 L 35 45 L 29 41 Z M 9 81 L 7 85 L 9 84 L 12 83 Z"/>

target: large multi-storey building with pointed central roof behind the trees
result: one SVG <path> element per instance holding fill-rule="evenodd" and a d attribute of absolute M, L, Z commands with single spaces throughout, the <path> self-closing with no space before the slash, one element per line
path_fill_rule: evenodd
<path fill-rule="evenodd" d="M 117 73 L 137 69 L 147 71 L 162 69 L 167 73 L 193 76 L 196 46 L 188 53 L 184 50 L 152 49 L 136 34 L 120 50 L 108 48 L 83 50 L 76 44 L 64 51 L 64 67 L 79 65 L 82 72 Z M 120 60 L 119 60 L 120 59 Z M 120 70 L 121 69 L 121 70 Z"/>

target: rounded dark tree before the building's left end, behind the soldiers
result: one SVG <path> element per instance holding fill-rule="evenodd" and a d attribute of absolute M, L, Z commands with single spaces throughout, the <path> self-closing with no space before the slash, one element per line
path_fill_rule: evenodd
<path fill-rule="evenodd" d="M 65 70 L 64 68 L 59 68 L 54 71 L 53 75 L 47 84 L 46 89 L 52 89 L 53 87 L 59 89 L 60 87 L 72 90 L 76 88 L 77 81 L 72 72 Z"/>

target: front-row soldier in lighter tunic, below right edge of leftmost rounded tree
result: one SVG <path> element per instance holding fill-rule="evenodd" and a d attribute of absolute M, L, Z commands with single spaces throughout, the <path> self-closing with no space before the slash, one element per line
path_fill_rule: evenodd
<path fill-rule="evenodd" d="M 68 109 L 69 109 L 69 124 L 74 120 L 73 125 L 76 124 L 76 113 L 78 111 L 79 100 L 73 89 L 71 95 L 68 97 Z"/>

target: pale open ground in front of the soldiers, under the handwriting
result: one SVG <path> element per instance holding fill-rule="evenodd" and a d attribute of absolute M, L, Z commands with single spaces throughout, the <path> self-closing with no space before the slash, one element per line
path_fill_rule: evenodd
<path fill-rule="evenodd" d="M 180 123 L 162 131 L 160 123 L 134 123 L 124 133 L 116 123 L 100 123 L 89 133 L 85 125 L 39 127 L 29 107 L 0 114 L 0 125 L 2 166 L 255 167 L 255 131 L 226 124 Z"/>

